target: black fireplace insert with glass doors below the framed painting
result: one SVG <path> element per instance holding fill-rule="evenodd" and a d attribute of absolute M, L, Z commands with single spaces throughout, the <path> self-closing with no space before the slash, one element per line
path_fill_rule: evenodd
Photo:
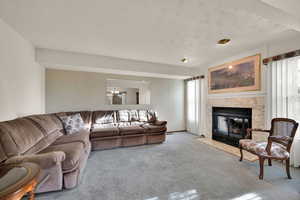
<path fill-rule="evenodd" d="M 213 107 L 212 138 L 233 146 L 245 138 L 252 124 L 251 108 Z"/>

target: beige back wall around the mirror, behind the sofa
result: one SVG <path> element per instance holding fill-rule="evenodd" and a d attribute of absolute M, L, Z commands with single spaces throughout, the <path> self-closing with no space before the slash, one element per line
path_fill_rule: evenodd
<path fill-rule="evenodd" d="M 150 82 L 150 105 L 105 104 L 106 79 Z M 152 108 L 168 130 L 184 130 L 183 80 L 46 69 L 46 112 Z"/>

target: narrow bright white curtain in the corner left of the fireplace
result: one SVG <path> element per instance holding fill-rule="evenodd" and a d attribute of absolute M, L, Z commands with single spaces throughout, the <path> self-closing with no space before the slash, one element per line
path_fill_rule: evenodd
<path fill-rule="evenodd" d="M 186 82 L 187 131 L 202 135 L 205 130 L 204 79 Z"/>

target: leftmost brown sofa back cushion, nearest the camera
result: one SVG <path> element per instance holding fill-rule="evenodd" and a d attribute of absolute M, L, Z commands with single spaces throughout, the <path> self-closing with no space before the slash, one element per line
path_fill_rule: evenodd
<path fill-rule="evenodd" d="M 44 137 L 43 131 L 28 118 L 0 122 L 0 143 L 7 158 L 24 154 Z M 45 147 L 38 148 L 36 151 Z"/>

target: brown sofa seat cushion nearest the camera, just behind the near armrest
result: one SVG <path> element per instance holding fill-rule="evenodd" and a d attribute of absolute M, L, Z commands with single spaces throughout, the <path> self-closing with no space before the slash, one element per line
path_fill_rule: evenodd
<path fill-rule="evenodd" d="M 62 151 L 66 154 L 65 160 L 62 162 L 62 170 L 64 173 L 75 170 L 84 155 L 84 145 L 81 142 L 72 142 L 65 144 L 51 145 L 40 153 L 49 153 L 53 151 Z"/>

